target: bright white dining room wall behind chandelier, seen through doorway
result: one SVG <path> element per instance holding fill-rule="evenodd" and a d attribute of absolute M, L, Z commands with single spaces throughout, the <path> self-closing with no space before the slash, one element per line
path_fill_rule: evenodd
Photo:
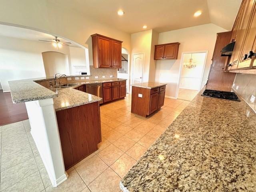
<path fill-rule="evenodd" d="M 183 55 L 182 72 L 180 76 L 180 88 L 199 90 L 201 87 L 202 73 L 204 70 L 204 63 L 206 52 L 203 53 L 187 53 Z M 192 55 L 192 62 L 196 63 L 195 68 L 185 68 L 183 65 L 189 62 Z"/>

